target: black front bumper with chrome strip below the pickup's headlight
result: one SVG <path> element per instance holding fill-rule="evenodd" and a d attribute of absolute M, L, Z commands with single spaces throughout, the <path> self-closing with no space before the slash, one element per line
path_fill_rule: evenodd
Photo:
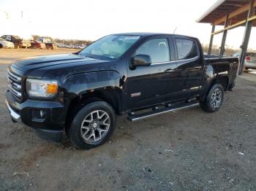
<path fill-rule="evenodd" d="M 15 101 L 9 90 L 6 93 L 7 109 L 14 122 L 34 128 L 42 139 L 61 141 L 67 110 L 56 101 L 26 100 L 23 103 Z M 39 115 L 43 112 L 42 117 Z"/>

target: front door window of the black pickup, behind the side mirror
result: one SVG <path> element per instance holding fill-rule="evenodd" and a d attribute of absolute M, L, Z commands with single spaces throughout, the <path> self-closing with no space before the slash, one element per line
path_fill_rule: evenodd
<path fill-rule="evenodd" d="M 152 63 L 170 61 L 170 52 L 167 39 L 151 39 L 144 42 L 135 55 L 150 55 Z"/>

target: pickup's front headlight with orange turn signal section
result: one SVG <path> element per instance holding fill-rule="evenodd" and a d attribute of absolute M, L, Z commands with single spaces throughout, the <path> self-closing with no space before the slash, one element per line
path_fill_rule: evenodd
<path fill-rule="evenodd" d="M 54 80 L 26 79 L 26 93 L 29 96 L 49 98 L 57 91 L 58 83 Z"/>

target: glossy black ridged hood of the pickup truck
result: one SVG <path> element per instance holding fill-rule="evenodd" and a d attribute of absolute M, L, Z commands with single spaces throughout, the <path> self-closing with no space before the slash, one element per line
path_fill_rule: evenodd
<path fill-rule="evenodd" d="M 10 70 L 20 76 L 36 79 L 59 79 L 94 71 L 118 71 L 116 61 L 102 61 L 75 54 L 45 55 L 15 61 Z"/>

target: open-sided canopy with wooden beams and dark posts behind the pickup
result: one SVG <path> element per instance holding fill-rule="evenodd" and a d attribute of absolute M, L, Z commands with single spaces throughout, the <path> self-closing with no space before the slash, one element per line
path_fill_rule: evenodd
<path fill-rule="evenodd" d="M 256 26 L 256 0 L 219 0 L 205 14 L 203 14 L 197 23 L 211 23 L 211 39 L 208 48 L 208 54 L 211 54 L 214 34 L 222 34 L 222 44 L 219 55 L 225 52 L 225 41 L 227 30 L 238 26 L 245 26 L 244 39 L 241 44 L 240 66 L 238 74 L 244 71 L 244 59 L 249 43 L 249 36 L 252 26 Z M 224 26 L 223 29 L 215 31 L 215 26 Z"/>

